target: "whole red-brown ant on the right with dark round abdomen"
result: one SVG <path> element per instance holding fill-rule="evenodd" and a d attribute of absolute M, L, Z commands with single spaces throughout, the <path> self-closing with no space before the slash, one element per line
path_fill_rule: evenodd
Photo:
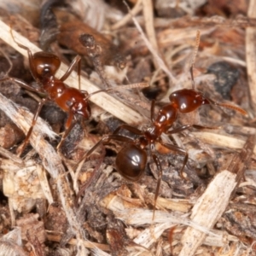
<path fill-rule="evenodd" d="M 197 45 L 198 48 L 199 44 L 199 32 L 197 34 Z M 196 48 L 196 50 L 197 50 Z M 195 55 L 194 55 L 195 57 Z M 231 108 L 234 109 L 242 114 L 247 114 L 241 108 L 236 106 L 232 106 L 225 103 L 218 103 L 214 102 L 211 99 L 205 97 L 200 91 L 195 90 L 195 81 L 193 75 L 193 64 L 194 61 L 191 63 L 190 66 L 190 75 L 192 81 L 192 89 L 183 89 L 183 90 L 176 90 L 170 96 L 170 103 L 167 103 L 165 106 L 160 108 L 156 118 L 154 118 L 154 105 L 155 101 L 151 103 L 151 125 L 146 131 L 141 131 L 136 127 L 131 125 L 120 125 L 112 135 L 107 135 L 102 137 L 102 139 L 95 144 L 94 147 L 90 148 L 90 150 L 85 154 L 83 160 L 79 163 L 79 168 L 77 172 L 77 177 L 79 175 L 79 169 L 83 163 L 83 161 L 92 154 L 96 148 L 99 147 L 101 143 L 108 143 L 110 140 L 116 140 L 119 142 L 124 142 L 125 146 L 120 149 L 119 153 L 116 156 L 116 169 L 121 174 L 121 176 L 125 177 L 130 181 L 137 181 L 139 180 L 143 172 L 145 171 L 146 164 L 147 164 L 147 147 L 149 148 L 149 152 L 151 157 L 154 160 L 154 163 L 157 167 L 159 172 L 159 177 L 157 180 L 157 186 L 154 196 L 154 210 L 156 205 L 156 200 L 159 195 L 160 190 L 160 181 L 162 177 L 162 168 L 160 165 L 160 160 L 158 156 L 155 154 L 155 144 L 160 143 L 162 146 L 176 152 L 177 154 L 183 154 L 183 166 L 180 169 L 180 176 L 183 177 L 183 169 L 186 166 L 189 155 L 183 149 L 179 148 L 175 145 L 170 143 L 164 143 L 161 139 L 162 133 L 166 133 L 167 135 L 181 132 L 184 130 L 189 129 L 190 127 L 195 127 L 197 129 L 209 128 L 204 127 L 201 125 L 183 125 L 177 127 L 176 129 L 172 129 L 172 125 L 177 120 L 177 113 L 190 113 L 195 111 L 197 108 L 200 108 L 202 105 L 213 104 L 224 108 Z M 138 135 L 136 139 L 131 139 L 130 137 L 125 137 L 122 135 L 118 135 L 120 130 L 130 131 L 131 133 Z M 154 218 L 154 214 L 153 214 Z"/>

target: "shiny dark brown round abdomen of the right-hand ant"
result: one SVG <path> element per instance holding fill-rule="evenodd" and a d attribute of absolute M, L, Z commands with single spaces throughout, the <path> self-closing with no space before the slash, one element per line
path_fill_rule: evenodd
<path fill-rule="evenodd" d="M 147 152 L 135 144 L 128 144 L 122 148 L 116 157 L 117 171 L 131 181 L 142 177 L 147 165 Z"/>

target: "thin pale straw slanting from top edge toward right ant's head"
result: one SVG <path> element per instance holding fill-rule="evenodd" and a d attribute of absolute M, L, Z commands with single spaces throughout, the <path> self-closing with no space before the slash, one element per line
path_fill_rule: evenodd
<path fill-rule="evenodd" d="M 125 3 L 125 2 L 124 2 Z M 131 15 L 131 11 L 127 5 L 127 3 L 125 3 L 125 5 L 127 6 L 127 9 L 129 10 L 129 13 Z M 148 38 L 145 36 L 142 27 L 139 25 L 139 23 L 137 22 L 137 20 L 133 17 L 133 15 L 131 15 L 131 19 L 133 20 L 135 26 L 137 27 L 138 32 L 141 34 L 141 37 L 143 38 L 144 43 L 147 45 L 149 51 L 151 52 L 151 54 L 154 56 L 155 61 L 157 61 L 159 67 L 167 74 L 167 76 L 170 79 L 170 82 L 172 84 L 176 84 L 177 83 L 177 79 L 175 79 L 175 77 L 172 75 L 171 71 L 168 69 L 168 67 L 166 66 L 165 61 L 163 61 L 160 57 L 160 55 L 158 55 L 158 53 L 154 50 L 153 46 L 150 44 L 150 42 L 148 41 Z"/>

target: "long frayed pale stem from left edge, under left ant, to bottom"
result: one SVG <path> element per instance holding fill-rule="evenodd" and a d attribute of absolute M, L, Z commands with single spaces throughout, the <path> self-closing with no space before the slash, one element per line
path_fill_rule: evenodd
<path fill-rule="evenodd" d="M 32 113 L 29 113 L 24 108 L 18 108 L 14 102 L 11 102 L 2 94 L 0 94 L 0 109 L 2 109 L 3 112 L 6 113 L 22 131 L 27 133 L 32 122 Z M 29 123 L 27 122 L 27 119 L 30 120 Z M 44 140 L 42 134 L 47 131 L 47 129 L 49 130 L 47 126 L 48 125 L 39 118 L 32 131 L 30 143 L 38 152 L 44 168 L 49 172 L 51 177 L 55 179 L 61 199 L 61 205 L 66 213 L 68 224 L 72 228 L 73 234 L 77 237 L 77 255 L 87 255 L 89 252 L 84 247 L 83 243 L 85 240 L 84 231 L 81 228 L 81 224 L 76 218 L 76 214 L 74 212 L 72 191 L 69 187 L 69 183 L 67 182 L 67 177 L 63 175 L 65 172 L 64 166 L 62 165 L 59 155 L 56 154 L 55 149 Z M 49 131 L 49 137 L 53 137 L 54 132 L 51 131 L 50 133 Z"/>

